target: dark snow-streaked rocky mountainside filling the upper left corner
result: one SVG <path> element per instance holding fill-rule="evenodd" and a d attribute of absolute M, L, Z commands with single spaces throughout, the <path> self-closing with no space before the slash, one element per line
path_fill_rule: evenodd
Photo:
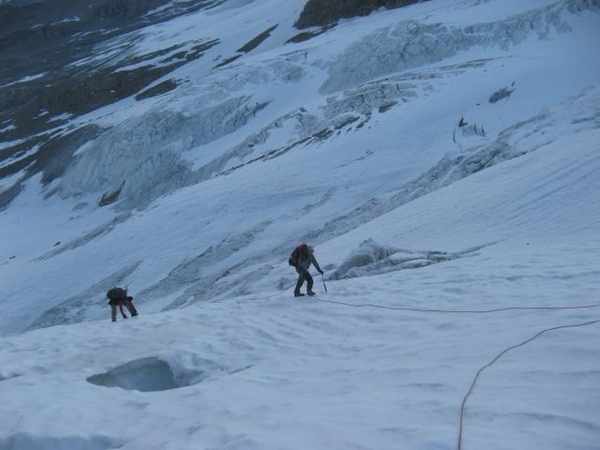
<path fill-rule="evenodd" d="M 70 117 L 131 95 L 145 98 L 174 89 L 175 80 L 146 88 L 200 58 L 218 39 L 199 41 L 181 51 L 169 48 L 117 62 L 80 64 L 94 49 L 125 33 L 223 1 L 14 0 L 1 4 L 0 142 L 14 145 L 4 147 L 0 155 L 0 177 L 24 171 L 27 178 L 41 172 L 42 182 L 47 183 L 59 176 L 78 145 L 99 132 L 61 131 Z M 0 192 L 0 210 L 20 189 L 17 180 Z"/>

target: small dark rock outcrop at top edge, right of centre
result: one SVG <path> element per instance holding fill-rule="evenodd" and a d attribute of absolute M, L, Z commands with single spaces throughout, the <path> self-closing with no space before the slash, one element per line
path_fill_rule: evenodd
<path fill-rule="evenodd" d="M 297 28 L 326 26 L 340 19 L 366 16 L 379 8 L 400 8 L 424 0 L 308 0 Z M 425 0 L 426 1 L 426 0 Z"/>

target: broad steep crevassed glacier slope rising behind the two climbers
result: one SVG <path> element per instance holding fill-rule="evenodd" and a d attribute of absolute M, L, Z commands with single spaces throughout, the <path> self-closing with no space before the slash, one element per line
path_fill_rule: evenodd
<path fill-rule="evenodd" d="M 57 160 L 41 193 L 32 179 L 2 212 L 17 237 L 3 254 L 5 292 L 22 300 L 0 329 L 102 317 L 114 284 L 132 284 L 147 311 L 286 286 L 291 245 L 333 242 L 598 128 L 596 2 L 431 1 L 286 43 L 302 5 L 226 2 L 130 36 L 134 54 L 220 44 L 174 72 L 168 94 L 71 121 L 94 131 Z M 417 259 L 452 260 L 518 231 L 493 229 L 464 228 L 479 236 L 465 245 L 420 236 L 429 250 Z M 372 238 L 407 250 L 402 236 L 379 233 L 352 249 Z M 332 258 L 333 277 L 366 273 L 338 267 L 352 249 Z"/>

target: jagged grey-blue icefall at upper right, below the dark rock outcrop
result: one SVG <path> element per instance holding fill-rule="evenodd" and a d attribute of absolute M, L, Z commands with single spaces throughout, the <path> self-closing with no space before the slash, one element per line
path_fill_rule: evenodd
<path fill-rule="evenodd" d="M 466 19 L 450 13 L 442 23 L 437 22 L 438 16 L 437 20 L 417 17 L 379 28 L 333 58 L 321 90 L 339 91 L 392 73 L 439 66 L 477 47 L 485 48 L 488 58 L 499 56 L 528 39 L 571 31 L 575 5 L 594 8 L 569 1 L 515 14 L 507 7 L 488 22 L 469 21 L 469 17 L 479 17 L 478 9 L 487 7 L 478 5 L 472 7 L 472 15 L 465 14 Z"/>

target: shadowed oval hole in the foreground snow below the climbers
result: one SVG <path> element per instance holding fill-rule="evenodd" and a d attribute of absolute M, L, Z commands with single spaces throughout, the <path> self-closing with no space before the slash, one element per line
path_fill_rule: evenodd
<path fill-rule="evenodd" d="M 105 373 L 92 375 L 87 381 L 98 386 L 120 387 L 126 390 L 166 391 L 199 383 L 213 371 L 221 369 L 212 361 L 201 362 L 202 368 L 179 368 L 174 372 L 167 362 L 151 356 L 130 361 Z"/>

